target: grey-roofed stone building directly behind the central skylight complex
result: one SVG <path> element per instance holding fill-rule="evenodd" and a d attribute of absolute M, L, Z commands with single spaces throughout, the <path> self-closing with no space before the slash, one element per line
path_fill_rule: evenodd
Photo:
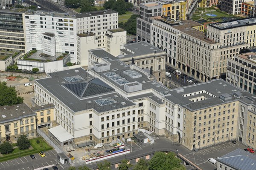
<path fill-rule="evenodd" d="M 113 46 L 113 48 L 115 47 Z M 105 61 L 118 59 L 128 65 L 134 64 L 148 73 L 152 68 L 154 78 L 157 81 L 163 83 L 165 80 L 166 53 L 163 50 L 157 49 L 149 43 L 140 42 L 122 45 L 119 54 L 115 57 L 104 49 L 89 50 L 89 67 L 101 63 L 102 59 Z"/>

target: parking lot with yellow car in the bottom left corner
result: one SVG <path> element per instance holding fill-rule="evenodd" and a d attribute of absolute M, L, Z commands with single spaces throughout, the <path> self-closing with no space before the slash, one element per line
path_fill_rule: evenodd
<path fill-rule="evenodd" d="M 35 170 L 56 165 L 57 152 L 55 150 L 48 150 L 44 153 L 45 157 L 41 157 L 36 153 L 34 154 L 34 159 L 30 158 L 30 156 L 23 156 L 9 161 L 0 162 L 0 170 Z M 57 167 L 59 170 L 64 170 L 60 164 L 58 164 Z M 49 170 L 51 169 L 52 168 L 49 168 Z"/>

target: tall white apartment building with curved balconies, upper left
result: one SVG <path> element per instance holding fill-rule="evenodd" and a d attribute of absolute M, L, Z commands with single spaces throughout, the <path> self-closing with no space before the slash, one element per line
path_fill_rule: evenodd
<path fill-rule="evenodd" d="M 111 9 L 79 14 L 25 12 L 23 20 L 27 50 L 69 53 L 72 63 L 81 64 L 81 56 L 79 60 L 76 52 L 76 34 L 93 32 L 99 46 L 105 46 L 107 30 L 118 28 L 117 15 Z M 44 40 L 47 33 L 54 35 L 53 40 Z"/>

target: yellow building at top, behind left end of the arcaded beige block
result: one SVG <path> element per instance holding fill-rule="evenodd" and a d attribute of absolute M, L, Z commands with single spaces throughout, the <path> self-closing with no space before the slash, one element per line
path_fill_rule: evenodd
<path fill-rule="evenodd" d="M 172 20 L 186 20 L 186 1 L 175 0 L 163 3 L 163 16 Z"/>

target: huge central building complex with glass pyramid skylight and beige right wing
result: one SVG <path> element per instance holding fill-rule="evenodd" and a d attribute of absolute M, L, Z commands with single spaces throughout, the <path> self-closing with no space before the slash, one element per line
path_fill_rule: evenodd
<path fill-rule="evenodd" d="M 66 140 L 109 143 L 146 127 L 189 150 L 232 139 L 247 144 L 250 132 L 256 148 L 254 95 L 222 79 L 168 89 L 136 63 L 125 64 L 102 49 L 89 52 L 87 70 L 35 81 L 35 102 L 55 105 L 58 128 L 72 136 Z"/>

